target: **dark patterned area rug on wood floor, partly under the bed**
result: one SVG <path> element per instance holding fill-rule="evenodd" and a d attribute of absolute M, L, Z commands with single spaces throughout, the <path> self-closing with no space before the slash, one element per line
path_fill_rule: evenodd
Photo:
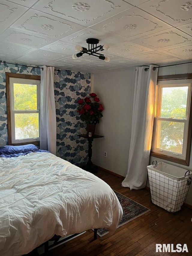
<path fill-rule="evenodd" d="M 146 212 L 149 212 L 150 209 L 146 208 L 145 206 L 141 205 L 140 203 L 135 202 L 134 200 L 131 200 L 130 198 L 120 194 L 119 192 L 115 191 L 117 198 L 119 199 L 119 202 L 123 208 L 123 217 L 121 221 L 119 222 L 118 227 L 121 227 L 122 225 L 128 223 L 129 221 L 134 220 L 135 218 L 145 214 Z M 99 236 L 104 236 L 108 232 L 107 228 L 98 228 L 97 231 Z"/>

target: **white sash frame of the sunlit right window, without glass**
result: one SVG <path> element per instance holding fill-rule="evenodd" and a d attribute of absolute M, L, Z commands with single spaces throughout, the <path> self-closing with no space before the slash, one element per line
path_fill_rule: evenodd
<path fill-rule="evenodd" d="M 160 115 L 161 115 L 162 88 L 165 88 L 165 87 L 184 87 L 184 86 L 188 86 L 187 106 L 186 106 L 185 119 L 160 117 Z M 176 158 L 176 159 L 180 159 L 180 160 L 184 160 L 184 161 L 186 160 L 188 130 L 189 130 L 189 115 L 190 115 L 190 105 L 191 105 L 191 90 L 192 90 L 192 79 L 164 80 L 164 81 L 158 81 L 157 82 L 157 96 L 156 96 L 156 103 L 155 103 L 155 118 L 154 118 L 154 128 L 153 128 L 153 139 L 152 139 L 151 152 L 154 152 L 158 155 L 167 156 L 167 157 L 170 157 L 172 159 Z M 182 154 L 174 153 L 174 152 L 170 152 L 170 151 L 162 150 L 162 149 L 158 148 L 158 145 L 157 145 L 158 139 L 157 139 L 157 137 L 160 135 L 160 132 L 158 132 L 158 120 L 170 121 L 170 122 L 183 122 L 184 123 L 184 137 L 183 137 Z"/>

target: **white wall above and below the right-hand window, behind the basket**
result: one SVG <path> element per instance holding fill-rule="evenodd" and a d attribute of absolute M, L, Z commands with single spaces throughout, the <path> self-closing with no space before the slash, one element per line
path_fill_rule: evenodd
<path fill-rule="evenodd" d="M 158 76 L 189 74 L 189 73 L 192 73 L 192 63 L 159 68 Z M 192 145 L 192 142 L 191 142 L 191 145 Z M 173 163 L 173 162 L 170 162 L 170 161 L 166 161 L 164 159 L 154 158 L 154 157 L 150 157 L 149 164 L 152 164 L 153 160 L 157 160 L 157 162 L 165 162 L 165 163 L 168 163 L 168 164 L 173 164 L 175 166 L 179 166 L 179 167 L 184 168 L 186 170 L 192 171 L 192 150 L 190 150 L 189 166 L 185 166 L 185 165 L 182 165 L 182 164 L 176 164 L 176 163 Z M 147 186 L 149 187 L 149 183 L 147 183 Z M 188 203 L 188 204 L 192 205 L 192 184 L 190 185 L 190 189 L 189 189 L 189 192 L 187 194 L 187 199 L 186 199 L 185 203 Z"/>

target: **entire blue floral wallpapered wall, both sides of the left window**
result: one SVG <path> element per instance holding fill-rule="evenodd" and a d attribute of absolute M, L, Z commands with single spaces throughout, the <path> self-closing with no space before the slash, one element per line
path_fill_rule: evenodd
<path fill-rule="evenodd" d="M 7 145 L 7 104 L 5 72 L 40 75 L 39 68 L 0 63 L 0 146 Z M 85 133 L 85 123 L 77 113 L 77 101 L 90 93 L 88 73 L 55 70 L 54 90 L 57 120 L 57 156 L 72 164 L 86 162 L 88 142 L 78 134 Z"/>

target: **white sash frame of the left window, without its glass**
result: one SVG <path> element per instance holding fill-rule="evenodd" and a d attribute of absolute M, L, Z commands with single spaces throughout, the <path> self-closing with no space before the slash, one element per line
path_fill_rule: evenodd
<path fill-rule="evenodd" d="M 37 110 L 14 110 L 14 92 L 13 92 L 13 84 L 35 84 L 37 85 Z M 10 90 L 10 118 L 11 118 L 11 143 L 28 143 L 39 141 L 40 137 L 27 138 L 27 139 L 15 139 L 15 114 L 16 113 L 39 113 L 39 134 L 40 134 L 40 80 L 34 79 L 25 79 L 25 78 L 9 78 L 9 90 Z"/>

